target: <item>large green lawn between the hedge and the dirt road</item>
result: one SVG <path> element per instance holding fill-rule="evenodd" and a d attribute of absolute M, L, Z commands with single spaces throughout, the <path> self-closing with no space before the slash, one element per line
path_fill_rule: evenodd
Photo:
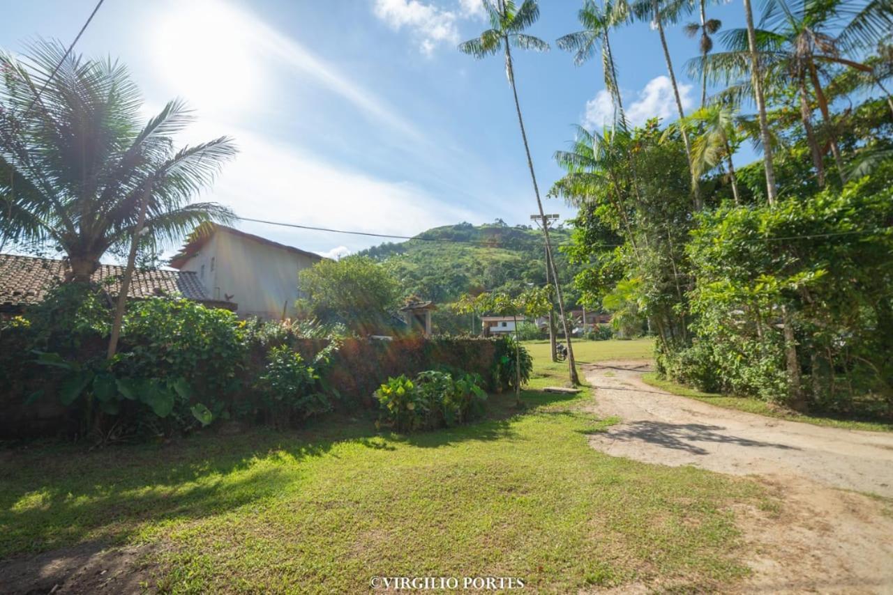
<path fill-rule="evenodd" d="M 647 350 L 580 344 L 583 360 Z M 610 420 L 588 413 L 588 392 L 538 392 L 560 379 L 535 355 L 528 408 L 494 395 L 490 417 L 462 428 L 377 433 L 363 414 L 294 432 L 0 450 L 0 558 L 146 544 L 147 583 L 173 592 L 355 592 L 375 575 L 699 591 L 746 574 L 730 510 L 768 505 L 762 489 L 590 449 L 587 434 Z"/>

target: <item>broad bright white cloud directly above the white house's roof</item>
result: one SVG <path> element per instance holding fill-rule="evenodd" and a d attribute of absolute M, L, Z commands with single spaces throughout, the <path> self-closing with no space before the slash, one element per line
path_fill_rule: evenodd
<path fill-rule="evenodd" d="M 215 126 L 200 122 L 196 133 L 208 136 L 205 128 Z M 295 145 L 246 129 L 230 130 L 238 139 L 239 154 L 223 168 L 208 199 L 231 207 L 238 216 L 395 236 L 413 236 L 430 227 L 474 218 L 472 212 L 438 202 L 413 184 L 321 161 Z M 254 223 L 239 227 L 314 252 L 330 250 L 333 239 L 330 232 Z M 335 237 L 345 244 L 335 250 L 353 251 L 378 243 L 365 236 Z"/>

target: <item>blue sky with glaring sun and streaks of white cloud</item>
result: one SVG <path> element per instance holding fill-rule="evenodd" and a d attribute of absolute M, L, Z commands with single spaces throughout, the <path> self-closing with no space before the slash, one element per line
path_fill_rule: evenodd
<path fill-rule="evenodd" d="M 0 47 L 20 52 L 38 36 L 67 44 L 94 4 L 8 3 Z M 554 47 L 578 28 L 579 8 L 579 0 L 541 0 L 530 33 L 553 49 L 515 55 L 544 194 L 562 174 L 552 153 L 572 139 L 572 125 L 604 116 L 599 62 L 578 68 Z M 737 2 L 708 10 L 723 29 L 743 22 Z M 501 57 L 475 61 L 455 48 L 486 26 L 473 0 L 105 0 L 77 51 L 125 62 L 145 95 L 146 118 L 168 99 L 186 98 L 198 120 L 184 143 L 236 138 L 237 160 L 203 199 L 255 219 L 411 236 L 463 220 L 528 223 L 536 211 Z M 697 42 L 680 27 L 668 37 L 695 107 L 697 81 L 683 65 Z M 656 31 L 633 25 L 612 43 L 631 114 L 672 119 Z M 547 211 L 572 215 L 556 200 Z M 380 242 L 238 227 L 315 252 Z"/>

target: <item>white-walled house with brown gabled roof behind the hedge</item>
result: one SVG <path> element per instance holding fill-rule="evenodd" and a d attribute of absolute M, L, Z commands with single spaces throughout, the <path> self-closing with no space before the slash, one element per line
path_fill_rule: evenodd
<path fill-rule="evenodd" d="M 295 315 L 298 271 L 320 260 L 319 254 L 232 227 L 206 225 L 189 236 L 171 267 L 195 272 L 214 300 L 236 302 L 240 318 L 279 320 Z"/>

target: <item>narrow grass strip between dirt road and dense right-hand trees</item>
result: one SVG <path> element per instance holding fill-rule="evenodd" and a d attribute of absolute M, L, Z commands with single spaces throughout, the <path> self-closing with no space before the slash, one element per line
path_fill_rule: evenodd
<path fill-rule="evenodd" d="M 803 415 L 789 409 L 782 409 L 773 406 L 771 403 L 755 399 L 754 397 L 734 397 L 716 393 L 702 393 L 688 386 L 677 384 L 672 380 L 664 380 L 655 374 L 649 372 L 642 376 L 642 380 L 663 389 L 667 393 L 678 394 L 683 397 L 704 401 L 717 407 L 726 409 L 738 409 L 739 411 L 747 411 L 747 413 L 756 413 L 768 417 L 778 417 L 779 419 L 787 419 L 789 421 L 799 421 L 806 424 L 814 424 L 814 426 L 830 426 L 840 427 L 847 430 L 867 430 L 870 432 L 893 432 L 893 424 L 875 421 L 859 421 L 854 419 L 838 419 L 835 417 L 814 417 Z"/>

